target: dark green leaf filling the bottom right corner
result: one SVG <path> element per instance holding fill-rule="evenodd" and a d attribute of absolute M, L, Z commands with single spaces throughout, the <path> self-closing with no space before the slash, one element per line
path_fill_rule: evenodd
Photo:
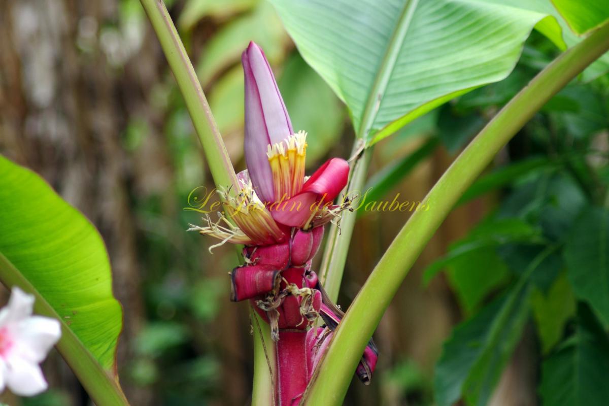
<path fill-rule="evenodd" d="M 544 406 L 602 406 L 609 399 L 609 340 L 593 313 L 578 306 L 576 331 L 543 362 Z"/>

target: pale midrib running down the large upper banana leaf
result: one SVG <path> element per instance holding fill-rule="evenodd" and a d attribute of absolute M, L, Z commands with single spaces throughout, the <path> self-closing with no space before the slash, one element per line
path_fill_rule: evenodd
<path fill-rule="evenodd" d="M 358 138 L 363 138 L 368 141 L 368 133 L 376 121 L 376 114 L 379 111 L 382 95 L 387 89 L 389 77 L 393 73 L 393 68 L 395 68 L 398 54 L 404 43 L 404 38 L 406 38 L 406 32 L 410 26 L 410 21 L 412 21 L 412 15 L 414 15 L 415 9 L 417 9 L 417 5 L 418 0 L 406 0 L 406 2 L 404 2 L 404 7 L 398 18 L 398 23 L 389 38 L 387 49 L 385 49 L 385 54 L 381 59 L 379 69 L 376 71 L 372 88 L 368 93 L 364 114 L 362 114 L 362 121 L 360 122 L 357 131 Z"/>

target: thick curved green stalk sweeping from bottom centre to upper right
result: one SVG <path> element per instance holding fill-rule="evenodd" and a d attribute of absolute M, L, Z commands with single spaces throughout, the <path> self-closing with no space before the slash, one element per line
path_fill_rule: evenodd
<path fill-rule="evenodd" d="M 609 24 L 564 52 L 522 89 L 473 139 L 395 237 L 340 322 L 303 403 L 340 405 L 362 352 L 410 267 L 459 197 L 527 121 L 609 49 Z"/>

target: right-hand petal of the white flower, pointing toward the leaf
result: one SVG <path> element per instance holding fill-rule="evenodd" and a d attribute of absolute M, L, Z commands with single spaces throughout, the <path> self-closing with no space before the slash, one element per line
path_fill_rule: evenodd
<path fill-rule="evenodd" d="M 15 342 L 13 351 L 33 363 L 42 362 L 62 335 L 59 321 L 43 316 L 28 317 L 11 330 Z"/>

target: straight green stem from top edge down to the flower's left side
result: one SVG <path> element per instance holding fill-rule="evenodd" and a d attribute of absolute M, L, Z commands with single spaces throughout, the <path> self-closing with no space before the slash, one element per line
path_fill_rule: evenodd
<path fill-rule="evenodd" d="M 186 49 L 184 49 L 163 0 L 140 1 L 157 33 L 169 66 L 174 72 L 175 80 L 182 96 L 184 96 L 186 108 L 188 108 L 192 124 L 203 145 L 203 151 L 214 182 L 221 187 L 232 185 L 232 189 L 236 190 L 237 177 L 234 173 L 233 164 L 231 164 L 224 141 L 222 141 L 216 120 L 211 114 L 209 104 L 205 94 L 203 94 L 199 79 L 197 79 L 197 74 L 192 68 L 190 58 L 186 54 Z"/>

